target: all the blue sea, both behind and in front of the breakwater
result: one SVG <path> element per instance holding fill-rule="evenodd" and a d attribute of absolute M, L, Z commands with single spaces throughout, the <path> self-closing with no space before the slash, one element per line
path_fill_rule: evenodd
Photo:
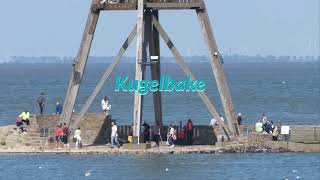
<path fill-rule="evenodd" d="M 107 64 L 89 64 L 76 110 L 88 98 Z M 226 63 L 225 71 L 237 112 L 246 124 L 265 112 L 275 122 L 319 124 L 319 63 Z M 221 111 L 211 68 L 192 64 L 198 79 L 207 82 L 206 94 Z M 46 93 L 46 113 L 63 102 L 70 77 L 68 64 L 1 64 L 0 125 L 14 124 L 26 109 L 37 113 L 36 98 Z M 117 75 L 133 76 L 133 64 L 120 64 L 90 111 L 100 111 L 108 95 L 112 116 L 119 124 L 131 122 L 133 93 L 115 92 Z M 149 74 L 150 72 L 148 72 Z M 163 64 L 162 73 L 183 77 L 177 64 Z M 149 77 L 150 78 L 150 77 Z M 192 118 L 208 124 L 210 116 L 195 93 L 164 93 L 165 123 Z M 145 96 L 146 121 L 153 120 L 152 96 Z M 89 172 L 89 173 L 88 173 Z M 86 176 L 87 174 L 87 176 Z M 320 179 L 320 154 L 214 154 L 214 155 L 0 155 L 0 179 Z"/>

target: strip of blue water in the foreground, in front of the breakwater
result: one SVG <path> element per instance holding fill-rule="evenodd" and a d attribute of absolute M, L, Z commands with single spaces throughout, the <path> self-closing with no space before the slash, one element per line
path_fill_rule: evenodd
<path fill-rule="evenodd" d="M 319 180 L 320 154 L 0 155 L 0 175 L 6 180 Z"/>

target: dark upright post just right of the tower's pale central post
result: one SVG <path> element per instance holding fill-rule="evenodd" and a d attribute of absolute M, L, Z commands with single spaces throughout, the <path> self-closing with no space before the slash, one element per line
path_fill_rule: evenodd
<path fill-rule="evenodd" d="M 159 11 L 153 10 L 152 16 L 159 20 Z M 153 27 L 151 23 L 152 29 L 150 33 L 150 41 L 149 41 L 149 54 L 150 56 L 158 57 L 157 60 L 151 62 L 151 79 L 158 80 L 160 82 L 160 41 L 159 41 L 159 32 Z M 163 126 L 162 122 L 162 104 L 161 104 L 161 92 L 155 91 L 153 92 L 153 105 L 154 105 L 154 115 L 155 115 L 155 123 L 160 128 Z"/>

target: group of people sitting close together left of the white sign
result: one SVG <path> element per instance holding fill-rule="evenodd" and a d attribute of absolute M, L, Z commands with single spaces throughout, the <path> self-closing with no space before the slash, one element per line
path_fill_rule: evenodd
<path fill-rule="evenodd" d="M 257 133 L 272 134 L 273 140 L 277 141 L 280 129 L 263 113 L 262 118 L 255 124 L 255 130 Z"/>

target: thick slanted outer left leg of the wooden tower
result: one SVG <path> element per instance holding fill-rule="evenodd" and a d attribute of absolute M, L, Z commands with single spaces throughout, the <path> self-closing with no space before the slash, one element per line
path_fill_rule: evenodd
<path fill-rule="evenodd" d="M 98 0 L 92 0 L 92 4 L 97 3 Z M 87 59 L 89 56 L 92 40 L 96 30 L 97 22 L 99 19 L 100 11 L 90 9 L 86 27 L 82 36 L 82 41 L 78 55 L 74 62 L 74 70 L 72 79 L 70 80 L 67 96 L 65 98 L 65 107 L 63 108 L 62 121 L 69 123 L 72 116 L 74 104 L 80 88 L 80 83 L 84 74 Z"/>

